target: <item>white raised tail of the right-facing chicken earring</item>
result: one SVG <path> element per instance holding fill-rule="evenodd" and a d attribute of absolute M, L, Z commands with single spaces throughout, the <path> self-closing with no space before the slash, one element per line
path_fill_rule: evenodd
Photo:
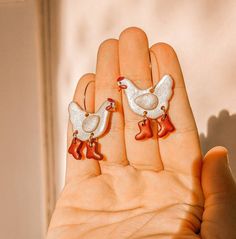
<path fill-rule="evenodd" d="M 71 102 L 69 104 L 69 113 L 70 113 L 70 121 L 73 125 L 74 130 L 78 130 L 82 126 L 82 122 L 85 118 L 85 112 L 81 109 L 81 107 L 75 102 Z"/>

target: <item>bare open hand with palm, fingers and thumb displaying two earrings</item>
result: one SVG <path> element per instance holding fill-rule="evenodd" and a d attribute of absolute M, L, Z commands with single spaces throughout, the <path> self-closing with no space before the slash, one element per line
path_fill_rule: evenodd
<path fill-rule="evenodd" d="M 151 67 L 150 67 L 151 66 Z M 168 137 L 136 141 L 142 118 L 117 90 L 122 75 L 140 88 L 164 74 L 174 81 L 169 116 L 176 131 Z M 96 74 L 79 81 L 74 101 L 96 111 L 107 97 L 116 100 L 109 131 L 99 139 L 103 161 L 67 155 L 65 187 L 51 219 L 47 239 L 236 238 L 236 186 L 227 150 L 211 149 L 203 158 L 180 65 L 173 48 L 149 48 L 146 34 L 125 29 L 98 50 Z M 68 127 L 68 145 L 72 129 Z"/>

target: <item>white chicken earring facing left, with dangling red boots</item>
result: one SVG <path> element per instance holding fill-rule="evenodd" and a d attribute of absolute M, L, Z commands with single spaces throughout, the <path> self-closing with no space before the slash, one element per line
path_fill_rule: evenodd
<path fill-rule="evenodd" d="M 167 114 L 174 84 L 173 79 L 169 75 L 164 75 L 154 87 L 145 90 L 139 89 L 132 81 L 125 77 L 119 77 L 117 83 L 119 89 L 125 91 L 131 110 L 143 117 L 138 122 L 139 133 L 135 136 L 136 140 L 153 136 L 151 120 L 157 121 L 157 135 L 160 138 L 175 130 Z"/>

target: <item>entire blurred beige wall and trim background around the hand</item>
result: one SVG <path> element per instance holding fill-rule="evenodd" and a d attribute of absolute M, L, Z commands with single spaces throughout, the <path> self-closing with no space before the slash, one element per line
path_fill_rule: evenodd
<path fill-rule="evenodd" d="M 0 238 L 44 238 L 74 88 L 130 26 L 176 49 L 203 152 L 226 146 L 236 175 L 236 1 L 0 0 Z"/>

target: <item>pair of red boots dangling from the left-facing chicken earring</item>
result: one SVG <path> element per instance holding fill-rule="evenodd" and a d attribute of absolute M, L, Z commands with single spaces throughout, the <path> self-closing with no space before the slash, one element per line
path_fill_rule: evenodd
<path fill-rule="evenodd" d="M 157 119 L 158 123 L 158 137 L 162 138 L 167 135 L 169 132 L 175 130 L 175 127 L 170 121 L 170 118 L 167 114 L 159 117 Z M 138 127 L 140 132 L 135 136 L 136 140 L 142 140 L 146 138 L 151 138 L 153 136 L 152 128 L 151 128 L 151 120 L 146 118 L 138 123 Z"/>

